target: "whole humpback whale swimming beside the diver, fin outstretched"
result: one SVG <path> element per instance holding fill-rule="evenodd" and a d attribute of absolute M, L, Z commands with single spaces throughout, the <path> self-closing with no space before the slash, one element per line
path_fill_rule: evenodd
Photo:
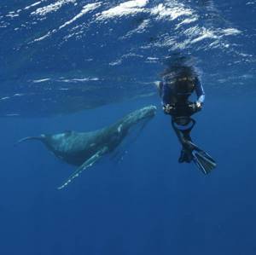
<path fill-rule="evenodd" d="M 61 184 L 58 189 L 65 188 L 74 178 L 85 169 L 96 163 L 105 154 L 112 153 L 131 128 L 139 123 L 145 125 L 155 115 L 156 107 L 148 106 L 127 114 L 113 125 L 89 132 L 76 132 L 73 130 L 57 134 L 42 134 L 40 136 L 28 136 L 20 139 L 18 143 L 38 140 L 44 143 L 55 156 L 70 165 L 78 166 L 77 170 Z"/>

